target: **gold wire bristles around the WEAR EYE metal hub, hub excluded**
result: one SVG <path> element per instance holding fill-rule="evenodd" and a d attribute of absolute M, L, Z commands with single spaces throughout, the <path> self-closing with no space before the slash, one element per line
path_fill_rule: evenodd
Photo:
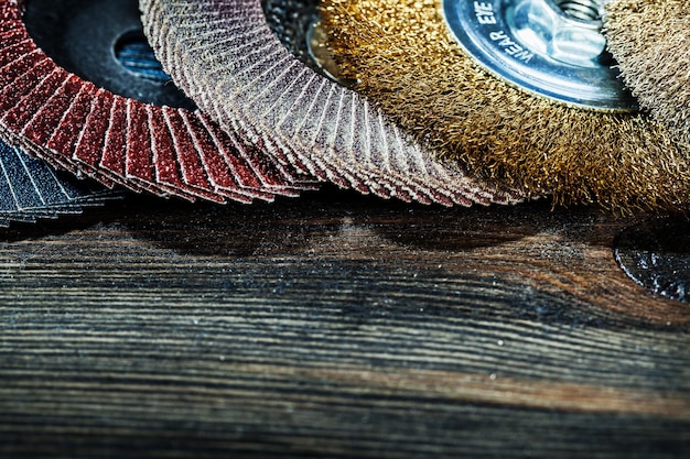
<path fill-rule="evenodd" d="M 440 0 L 325 0 L 322 18 L 344 77 L 440 160 L 556 204 L 687 206 L 688 149 L 660 123 L 569 107 L 489 75 L 456 43 Z"/>

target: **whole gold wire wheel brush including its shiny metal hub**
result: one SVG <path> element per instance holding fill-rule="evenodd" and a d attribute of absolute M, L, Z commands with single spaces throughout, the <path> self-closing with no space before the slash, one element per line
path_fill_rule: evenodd
<path fill-rule="evenodd" d="M 689 152 L 623 87 L 602 3 L 325 0 L 322 17 L 342 74 L 441 159 L 557 204 L 686 208 Z"/>

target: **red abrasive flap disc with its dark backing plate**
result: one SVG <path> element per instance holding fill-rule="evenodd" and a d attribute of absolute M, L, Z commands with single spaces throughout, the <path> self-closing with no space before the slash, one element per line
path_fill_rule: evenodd
<path fill-rule="evenodd" d="M 0 0 L 0 136 L 9 143 L 108 186 L 191 200 L 271 200 L 314 187 L 313 178 L 184 108 L 184 97 L 177 107 L 133 98 L 165 94 L 164 85 L 149 90 L 151 85 L 126 69 L 103 76 L 119 65 L 101 65 L 114 59 L 117 40 L 141 28 L 136 1 L 31 0 L 32 30 L 40 39 L 35 31 L 45 25 L 44 42 L 53 42 L 55 56 L 36 45 L 23 7 L 24 1 Z M 74 51 L 78 43 L 85 51 Z M 91 53 L 96 57 L 88 59 Z M 56 63 L 63 59 L 74 67 Z M 136 94 L 115 94 L 74 72 Z M 164 96 L 166 103 L 171 99 Z"/>

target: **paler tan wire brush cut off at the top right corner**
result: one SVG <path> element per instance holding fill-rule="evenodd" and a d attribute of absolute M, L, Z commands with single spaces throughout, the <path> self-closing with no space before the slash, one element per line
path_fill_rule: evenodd
<path fill-rule="evenodd" d="M 690 2 L 612 0 L 608 48 L 640 105 L 690 145 Z"/>

